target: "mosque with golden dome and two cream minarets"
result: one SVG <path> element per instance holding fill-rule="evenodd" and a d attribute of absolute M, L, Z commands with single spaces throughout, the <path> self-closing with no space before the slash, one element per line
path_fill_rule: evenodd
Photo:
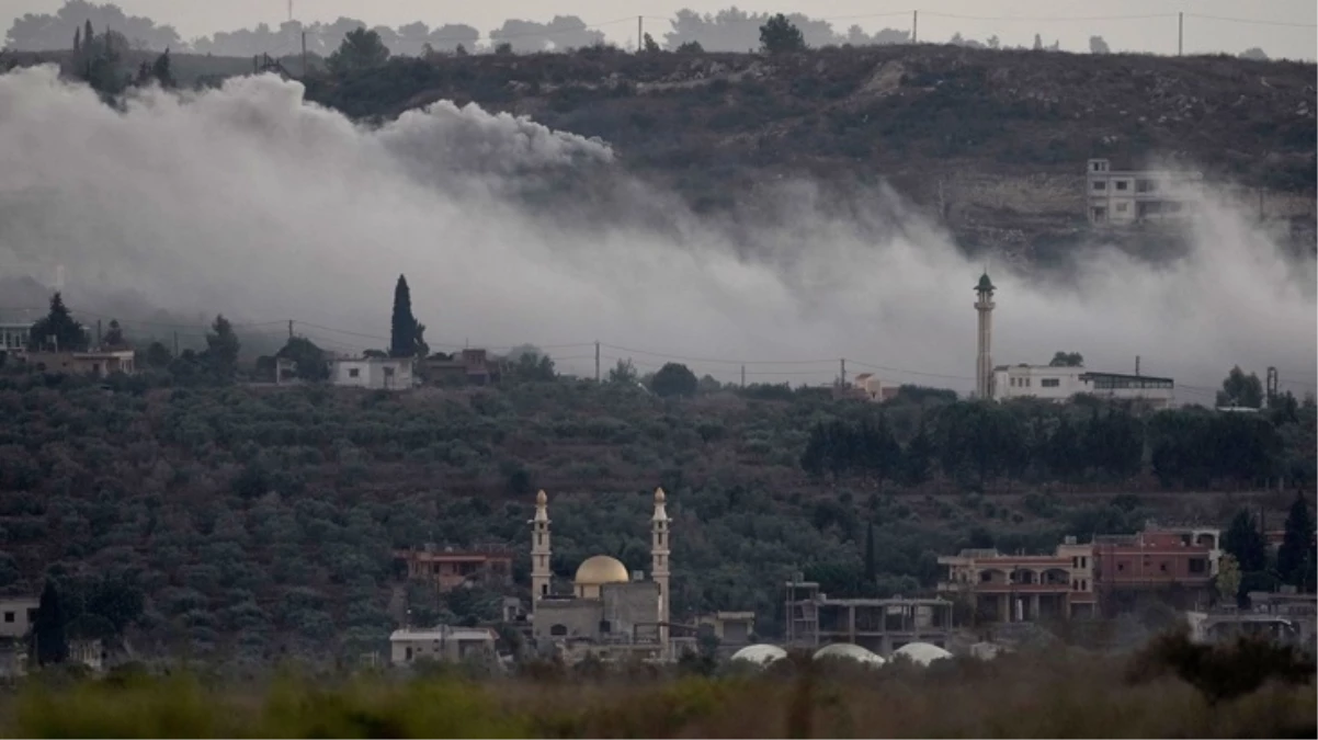
<path fill-rule="evenodd" d="M 593 654 L 604 660 L 672 660 L 668 623 L 668 514 L 663 489 L 655 490 L 650 517 L 650 579 L 627 573 L 617 558 L 585 558 L 572 578 L 571 594 L 556 594 L 550 571 L 548 496 L 535 496 L 531 524 L 531 629 L 538 650 L 568 658 Z M 683 641 L 681 637 L 677 641 Z"/>

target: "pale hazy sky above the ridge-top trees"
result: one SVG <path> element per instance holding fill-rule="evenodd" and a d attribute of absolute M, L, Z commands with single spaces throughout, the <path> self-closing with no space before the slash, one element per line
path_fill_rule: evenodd
<path fill-rule="evenodd" d="M 157 22 L 173 24 L 186 38 L 215 30 L 232 30 L 258 22 L 278 24 L 287 18 L 287 0 L 119 0 L 132 14 L 145 14 Z M 294 0 L 294 16 L 302 21 L 332 21 L 339 16 L 361 18 L 369 24 L 391 25 L 422 20 L 430 25 L 467 22 L 481 32 L 498 26 L 505 18 L 521 17 L 546 21 L 555 13 L 576 14 L 588 24 L 604 24 L 610 40 L 625 42 L 635 38 L 635 16 L 668 18 L 680 8 L 714 12 L 731 3 L 725 0 L 492 0 L 476 5 L 434 3 L 428 0 Z M 62 0 L 0 0 L 0 17 L 28 12 L 53 12 Z M 742 3 L 747 11 L 803 11 L 812 17 L 841 18 L 836 28 L 855 22 L 873 32 L 883 26 L 909 28 L 912 8 L 919 8 L 921 40 L 945 41 L 954 32 L 973 38 L 998 36 L 1006 43 L 1028 45 L 1033 34 L 1061 40 L 1064 49 L 1087 50 L 1090 36 L 1102 36 L 1114 50 L 1174 53 L 1177 12 L 1185 20 L 1185 49 L 1191 51 L 1239 53 L 1261 46 L 1272 57 L 1311 58 L 1318 37 L 1318 3 L 1314 0 L 911 0 L 902 3 L 866 3 L 862 0 L 811 0 L 809 3 L 767 4 Z M 896 13 L 892 17 L 857 17 Z M 1027 20 L 973 20 L 937 17 L 936 13 L 1014 17 Z M 1149 16 L 1169 13 L 1166 18 L 1094 20 L 1111 16 Z M 1198 16 L 1220 16 L 1267 21 L 1259 24 L 1224 22 Z M 1046 18 L 1090 18 L 1048 21 Z M 1044 20 L 1035 20 L 1044 18 Z M 647 20 L 647 30 L 656 37 L 668 30 L 662 20 Z M 1271 25 L 1269 25 L 1271 24 Z M 1307 26 L 1307 28 L 1306 28 Z"/>

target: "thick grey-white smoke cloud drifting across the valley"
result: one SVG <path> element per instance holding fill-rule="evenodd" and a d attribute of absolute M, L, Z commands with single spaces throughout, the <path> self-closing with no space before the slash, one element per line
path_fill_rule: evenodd
<path fill-rule="evenodd" d="M 822 215 L 811 184 L 787 184 L 776 213 L 788 226 L 754 233 L 753 255 L 724 238 L 724 224 L 637 183 L 621 190 L 647 200 L 637 212 L 662 204 L 667 228 L 642 225 L 617 200 L 577 203 L 564 219 L 509 195 L 527 178 L 617 170 L 614 157 L 598 141 L 448 104 L 364 129 L 275 78 L 185 100 L 149 92 L 116 112 L 51 68 L 14 71 L 0 78 L 0 270 L 50 275 L 62 263 L 88 292 L 370 334 L 387 334 L 406 273 L 436 345 L 600 340 L 689 358 L 820 361 L 750 365 L 762 382 L 825 382 L 833 358 L 847 357 L 853 373 L 869 362 L 948 375 L 879 371 L 890 381 L 973 386 L 971 288 L 983 265 L 896 195 L 867 194 L 869 211 L 838 219 Z M 1307 373 L 1310 266 L 1226 203 L 1191 236 L 1190 254 L 1160 267 L 1090 251 L 1068 284 L 990 266 L 995 361 L 1078 350 L 1093 369 L 1130 371 L 1143 356 L 1145 373 L 1191 386 L 1218 384 L 1232 363 Z M 642 369 L 662 362 L 634 357 Z M 738 374 L 735 363 L 691 365 Z"/>

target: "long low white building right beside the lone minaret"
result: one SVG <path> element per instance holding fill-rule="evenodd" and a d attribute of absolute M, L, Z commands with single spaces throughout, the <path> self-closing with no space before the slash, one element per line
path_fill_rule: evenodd
<path fill-rule="evenodd" d="M 994 400 L 1037 398 L 1065 402 L 1077 394 L 1089 394 L 1111 400 L 1139 400 L 1153 408 L 1168 408 L 1176 400 L 1172 378 L 1050 365 L 1000 365 L 994 369 L 992 390 Z"/>

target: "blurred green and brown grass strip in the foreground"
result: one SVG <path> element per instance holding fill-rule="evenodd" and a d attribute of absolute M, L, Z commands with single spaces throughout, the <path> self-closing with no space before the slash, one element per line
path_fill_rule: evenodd
<path fill-rule="evenodd" d="M 1127 661 L 1046 654 L 924 670 L 782 665 L 720 677 L 358 675 L 241 685 L 194 675 L 37 677 L 0 698 L 5 740 L 1314 736 L 1311 685 L 1269 683 L 1214 704 L 1170 673 L 1135 679 Z"/>

